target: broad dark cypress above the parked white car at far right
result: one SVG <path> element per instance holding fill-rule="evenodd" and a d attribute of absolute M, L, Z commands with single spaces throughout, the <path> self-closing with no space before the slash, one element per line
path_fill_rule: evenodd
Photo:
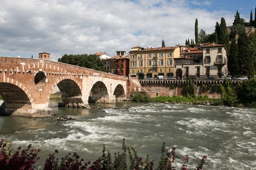
<path fill-rule="evenodd" d="M 253 75 L 253 54 L 250 49 L 249 40 L 247 34 L 244 31 L 239 33 L 239 39 L 237 42 L 238 54 L 239 54 L 239 68 L 241 68 L 240 74 L 251 76 Z"/>

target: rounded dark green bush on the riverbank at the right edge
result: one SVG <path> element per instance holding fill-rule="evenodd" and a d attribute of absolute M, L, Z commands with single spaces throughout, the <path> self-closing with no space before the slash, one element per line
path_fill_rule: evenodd
<path fill-rule="evenodd" d="M 246 80 L 238 87 L 238 99 L 241 103 L 256 102 L 256 79 Z"/>

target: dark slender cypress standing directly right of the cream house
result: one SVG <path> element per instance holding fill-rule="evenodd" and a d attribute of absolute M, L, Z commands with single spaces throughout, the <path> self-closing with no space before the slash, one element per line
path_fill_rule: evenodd
<path fill-rule="evenodd" d="M 239 62 L 238 62 L 238 47 L 236 44 L 236 39 L 233 38 L 230 44 L 229 57 L 227 58 L 228 70 L 232 76 L 239 74 Z"/>

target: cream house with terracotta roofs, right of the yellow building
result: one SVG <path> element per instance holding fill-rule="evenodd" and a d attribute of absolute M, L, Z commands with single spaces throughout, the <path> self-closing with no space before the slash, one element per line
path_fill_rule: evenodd
<path fill-rule="evenodd" d="M 182 52 L 175 58 L 175 77 L 180 79 L 220 79 L 227 76 L 227 52 L 225 45 L 207 44 L 201 50 Z"/>

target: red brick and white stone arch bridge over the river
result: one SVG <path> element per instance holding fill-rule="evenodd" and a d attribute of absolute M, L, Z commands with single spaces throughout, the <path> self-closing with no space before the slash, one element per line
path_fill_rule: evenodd
<path fill-rule="evenodd" d="M 85 108 L 89 102 L 115 103 L 126 98 L 127 77 L 45 59 L 0 57 L 0 114 L 51 116 L 55 86 L 61 106 Z"/>

